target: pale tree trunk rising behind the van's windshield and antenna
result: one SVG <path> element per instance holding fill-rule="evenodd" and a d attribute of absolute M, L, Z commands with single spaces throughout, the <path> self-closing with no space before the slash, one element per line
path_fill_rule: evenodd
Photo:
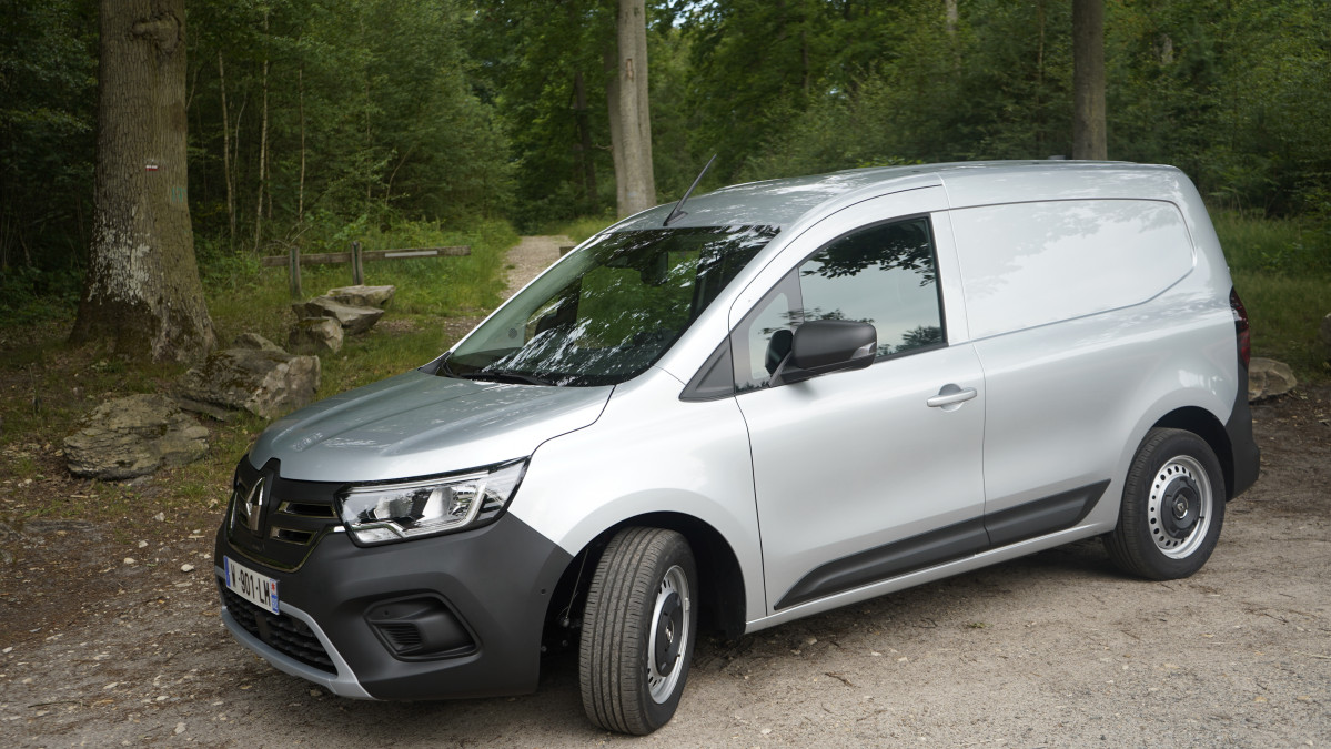
<path fill-rule="evenodd" d="M 623 218 L 656 205 L 652 125 L 647 104 L 647 13 L 643 0 L 619 0 L 616 39 L 619 55 L 607 97 L 619 216 Z"/>

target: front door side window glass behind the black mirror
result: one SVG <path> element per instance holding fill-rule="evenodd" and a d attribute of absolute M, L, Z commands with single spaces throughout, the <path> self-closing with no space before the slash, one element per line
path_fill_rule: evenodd
<path fill-rule="evenodd" d="M 858 229 L 801 262 L 731 338 L 739 388 L 765 386 L 791 350 L 792 331 L 811 319 L 873 323 L 880 359 L 942 346 L 929 220 Z"/>

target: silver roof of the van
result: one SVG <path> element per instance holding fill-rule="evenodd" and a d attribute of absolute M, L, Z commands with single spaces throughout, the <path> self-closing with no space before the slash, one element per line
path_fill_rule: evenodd
<path fill-rule="evenodd" d="M 1014 200 L 1167 198 L 1177 194 L 1179 177 L 1173 166 L 1126 161 L 958 161 L 848 169 L 745 182 L 692 196 L 684 204 L 687 216 L 671 226 L 763 225 L 785 229 L 811 214 L 835 210 L 873 194 L 936 185 L 948 188 L 952 208 Z M 672 208 L 673 202 L 644 210 L 612 230 L 660 229 Z"/>

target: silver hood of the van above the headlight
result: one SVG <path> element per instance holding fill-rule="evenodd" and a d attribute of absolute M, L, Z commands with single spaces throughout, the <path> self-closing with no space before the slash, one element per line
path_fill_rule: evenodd
<path fill-rule="evenodd" d="M 274 422 L 250 450 L 307 482 L 409 479 L 526 458 L 600 416 L 612 387 L 500 384 L 401 374 Z"/>

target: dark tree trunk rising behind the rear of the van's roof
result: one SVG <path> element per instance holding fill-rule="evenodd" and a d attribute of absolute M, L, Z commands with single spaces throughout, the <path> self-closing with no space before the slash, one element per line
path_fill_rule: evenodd
<path fill-rule="evenodd" d="M 1109 158 L 1105 0 L 1073 0 L 1073 158 Z"/>

